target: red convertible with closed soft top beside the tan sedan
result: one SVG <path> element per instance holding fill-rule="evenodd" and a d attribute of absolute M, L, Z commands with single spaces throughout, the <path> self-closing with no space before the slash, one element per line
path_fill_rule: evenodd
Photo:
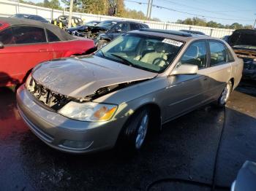
<path fill-rule="evenodd" d="M 57 26 L 0 17 L 0 87 L 24 82 L 37 63 L 83 55 L 93 48 L 93 40 L 78 39 Z"/>

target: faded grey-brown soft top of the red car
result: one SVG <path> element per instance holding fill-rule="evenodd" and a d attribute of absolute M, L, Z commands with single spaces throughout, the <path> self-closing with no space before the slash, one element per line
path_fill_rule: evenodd
<path fill-rule="evenodd" d="M 53 32 L 53 34 L 58 36 L 59 39 L 61 39 L 61 41 L 75 39 L 75 37 L 67 34 L 58 26 L 54 26 L 49 23 L 42 23 L 41 21 L 37 21 L 37 20 L 22 19 L 22 18 L 16 18 L 16 17 L 0 17 L 0 23 L 1 22 L 8 23 L 9 26 L 37 26 L 40 28 L 46 28 L 49 31 Z"/>

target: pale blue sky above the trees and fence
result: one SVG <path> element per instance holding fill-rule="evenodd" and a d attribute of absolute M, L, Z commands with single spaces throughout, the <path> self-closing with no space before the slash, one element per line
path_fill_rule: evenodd
<path fill-rule="evenodd" d="M 127 8 L 141 10 L 146 15 L 147 4 L 138 4 L 132 1 L 148 3 L 148 0 L 124 0 Z M 256 0 L 153 0 L 153 4 L 195 14 L 189 15 L 152 7 L 151 17 L 158 17 L 165 22 L 173 23 L 178 19 L 184 20 L 197 15 L 200 15 L 197 17 L 205 18 L 206 21 L 213 20 L 224 25 L 232 23 L 253 25 L 256 19 Z"/>

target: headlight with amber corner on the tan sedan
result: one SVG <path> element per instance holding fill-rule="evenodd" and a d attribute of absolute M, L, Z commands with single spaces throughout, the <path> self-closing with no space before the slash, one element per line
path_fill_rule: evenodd
<path fill-rule="evenodd" d="M 116 112 L 117 106 L 98 104 L 94 102 L 78 103 L 70 101 L 59 110 L 59 114 L 74 120 L 102 122 L 110 120 Z"/>

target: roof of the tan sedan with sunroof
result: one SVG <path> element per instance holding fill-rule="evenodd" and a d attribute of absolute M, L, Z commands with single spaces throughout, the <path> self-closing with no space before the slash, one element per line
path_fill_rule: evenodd
<path fill-rule="evenodd" d="M 136 34 L 146 34 L 152 36 L 161 36 L 164 38 L 176 39 L 178 41 L 189 42 L 194 39 L 217 39 L 211 36 L 204 36 L 198 34 L 189 34 L 183 31 L 172 31 L 172 30 L 162 30 L 162 29 L 152 29 L 152 28 L 141 28 L 136 31 L 129 31 L 129 33 Z M 218 39 L 220 40 L 220 39 Z M 220 40 L 222 41 L 222 40 Z"/>

